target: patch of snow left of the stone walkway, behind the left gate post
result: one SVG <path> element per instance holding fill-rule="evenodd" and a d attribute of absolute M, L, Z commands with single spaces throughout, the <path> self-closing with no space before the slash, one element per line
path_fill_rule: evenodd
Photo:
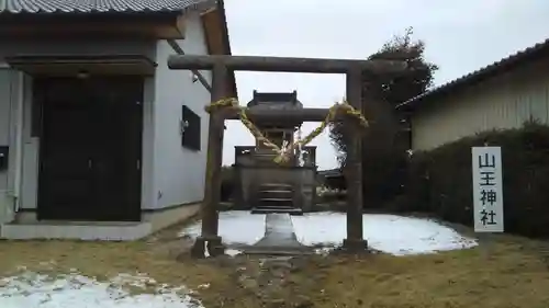
<path fill-rule="evenodd" d="M 249 210 L 221 212 L 219 235 L 226 244 L 255 244 L 265 236 L 265 218 L 266 215 Z M 198 221 L 184 228 L 180 236 L 195 239 L 201 226 L 202 223 Z"/>

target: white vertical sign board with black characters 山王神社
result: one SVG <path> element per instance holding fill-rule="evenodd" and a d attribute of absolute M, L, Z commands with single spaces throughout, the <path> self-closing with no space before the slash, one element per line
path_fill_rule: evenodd
<path fill-rule="evenodd" d="M 503 176 L 500 147 L 473 147 L 475 232 L 503 232 Z"/>

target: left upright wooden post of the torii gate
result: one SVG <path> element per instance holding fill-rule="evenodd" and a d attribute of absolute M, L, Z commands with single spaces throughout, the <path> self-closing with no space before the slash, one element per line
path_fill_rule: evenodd
<path fill-rule="evenodd" d="M 227 68 L 219 64 L 213 68 L 212 102 L 225 95 L 225 80 Z M 204 202 L 201 207 L 202 230 L 192 247 L 191 254 L 195 258 L 205 256 L 205 248 L 210 255 L 224 253 L 219 232 L 219 204 L 221 201 L 221 164 L 223 159 L 223 135 L 225 112 L 212 110 L 210 113 L 208 135 L 208 158 L 204 184 Z"/>

